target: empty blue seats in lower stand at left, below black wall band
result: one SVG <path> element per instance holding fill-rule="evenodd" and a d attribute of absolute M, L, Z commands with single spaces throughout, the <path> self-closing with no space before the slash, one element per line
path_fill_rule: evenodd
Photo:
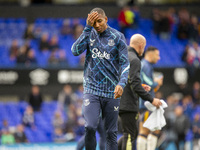
<path fill-rule="evenodd" d="M 28 106 L 27 102 L 0 102 L 0 128 L 3 120 L 8 120 L 10 126 L 22 123 L 23 113 Z M 57 102 L 44 102 L 41 112 L 35 112 L 35 129 L 26 127 L 25 134 L 31 143 L 52 142 L 53 125 L 52 119 L 57 108 Z M 13 117 L 14 116 L 14 117 Z M 66 118 L 66 116 L 64 116 Z"/>

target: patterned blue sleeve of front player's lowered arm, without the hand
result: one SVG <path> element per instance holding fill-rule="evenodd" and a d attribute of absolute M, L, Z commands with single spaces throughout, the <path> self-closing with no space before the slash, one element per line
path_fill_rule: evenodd
<path fill-rule="evenodd" d="M 120 64 L 120 80 L 119 85 L 121 85 L 123 88 L 126 85 L 127 79 L 128 79 L 128 73 L 130 69 L 130 64 L 128 60 L 128 49 L 126 45 L 126 40 L 124 35 L 121 36 L 120 39 L 120 45 L 119 45 L 119 64 Z"/>

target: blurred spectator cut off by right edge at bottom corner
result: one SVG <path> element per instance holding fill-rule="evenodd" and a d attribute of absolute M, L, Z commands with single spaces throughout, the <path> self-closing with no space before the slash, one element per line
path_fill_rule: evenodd
<path fill-rule="evenodd" d="M 193 150 L 200 149 L 200 115 L 199 112 L 195 114 L 194 121 L 192 123 L 193 132 Z"/>

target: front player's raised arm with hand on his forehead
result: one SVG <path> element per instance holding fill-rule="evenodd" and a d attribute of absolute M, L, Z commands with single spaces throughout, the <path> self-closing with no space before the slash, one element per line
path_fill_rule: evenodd
<path fill-rule="evenodd" d="M 97 19 L 98 13 L 93 12 L 92 14 L 88 14 L 87 18 L 87 25 L 83 30 L 83 33 L 80 35 L 80 37 L 74 42 L 72 45 L 71 51 L 74 56 L 78 56 L 82 54 L 88 47 L 88 41 L 89 36 L 92 31 L 92 27 L 94 24 L 94 21 Z"/>

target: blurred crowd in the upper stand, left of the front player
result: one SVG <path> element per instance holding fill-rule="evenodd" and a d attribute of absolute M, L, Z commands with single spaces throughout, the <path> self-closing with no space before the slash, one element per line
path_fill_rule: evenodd
<path fill-rule="evenodd" d="M 39 56 L 42 55 L 47 56 L 49 66 L 68 66 L 72 43 L 66 41 L 68 49 L 63 48 L 60 44 L 61 39 L 69 38 L 74 42 L 82 33 L 83 26 L 76 20 L 71 24 L 69 19 L 65 19 L 58 30 L 58 33 L 50 34 L 40 26 L 29 24 L 22 42 L 18 39 L 12 41 L 9 61 L 26 67 L 37 67 Z M 82 58 L 78 66 L 82 66 Z"/>

